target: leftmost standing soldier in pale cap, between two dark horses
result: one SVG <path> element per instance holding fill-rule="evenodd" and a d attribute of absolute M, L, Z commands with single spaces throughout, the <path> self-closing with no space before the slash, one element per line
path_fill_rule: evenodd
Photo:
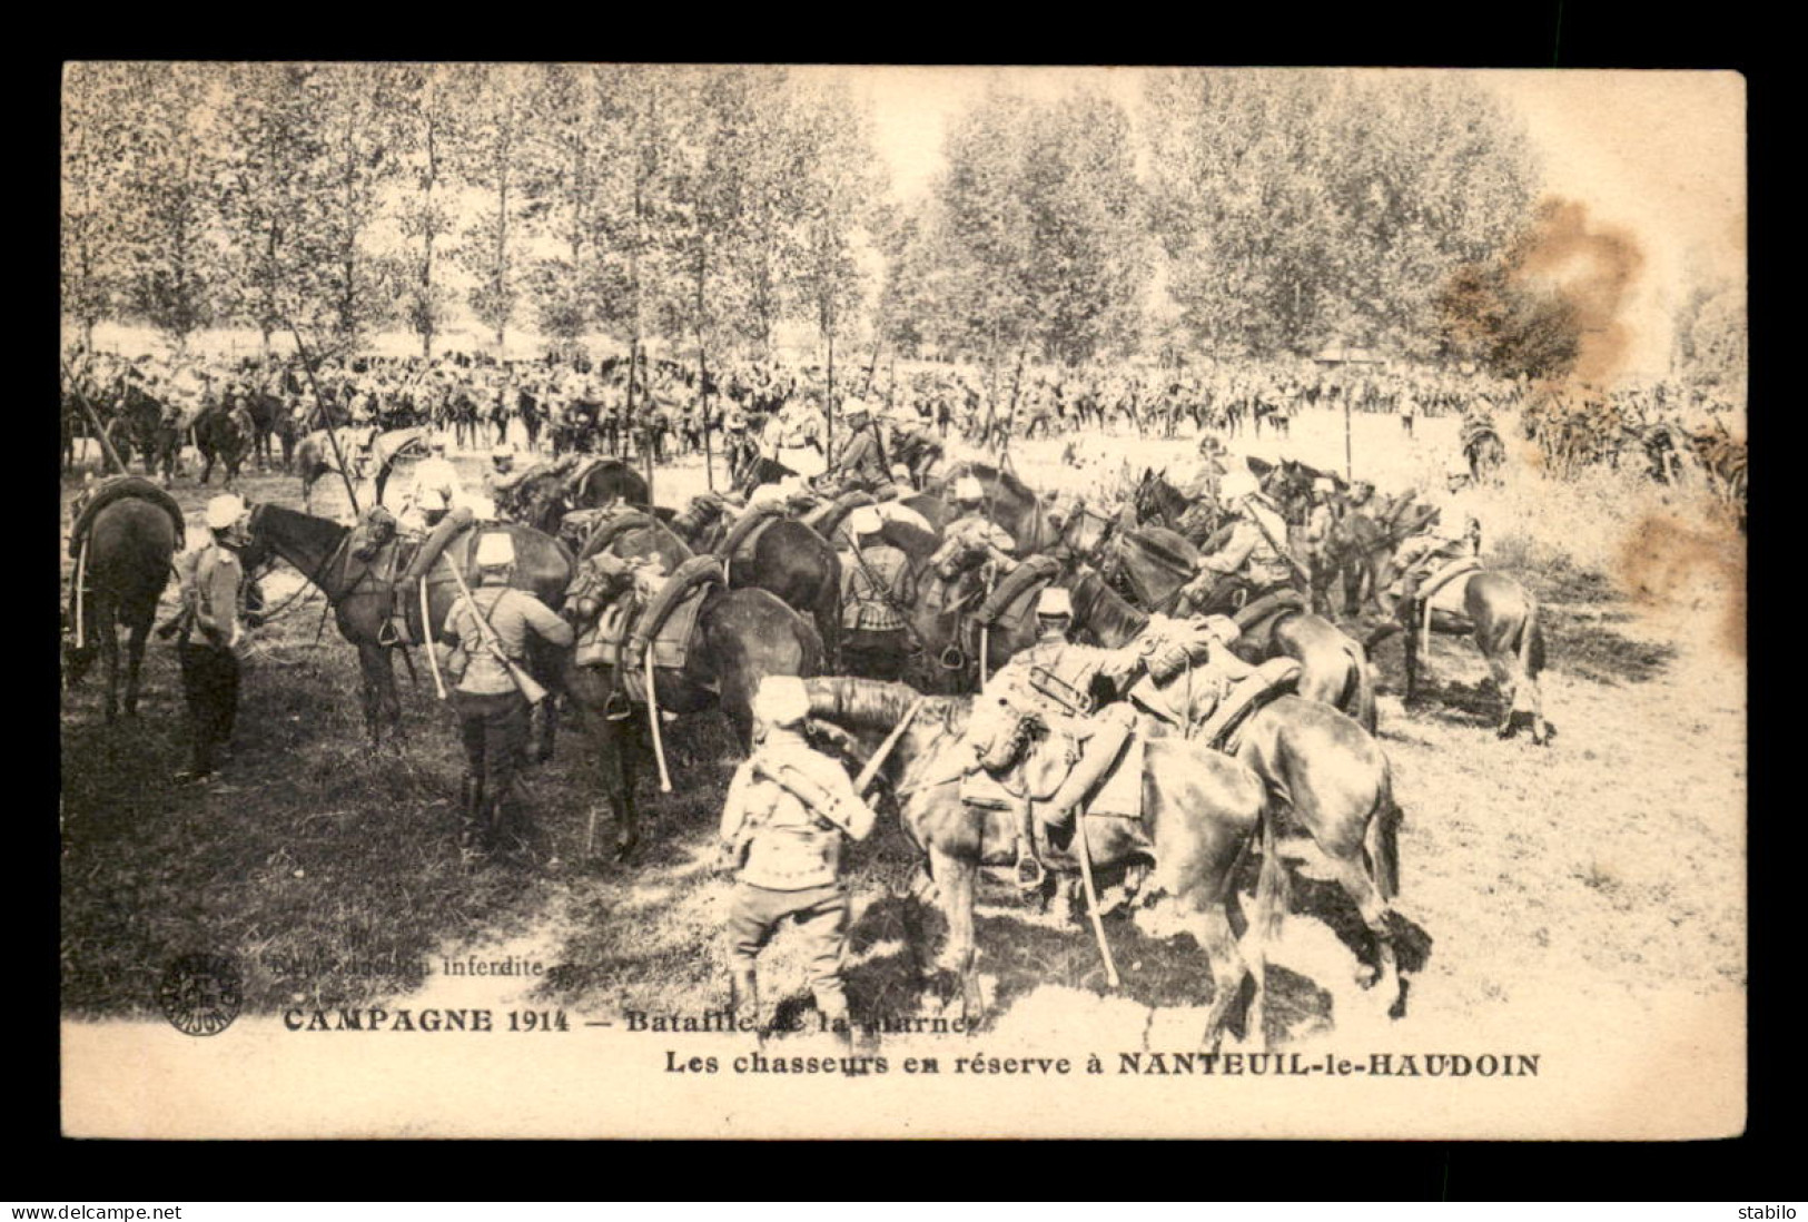
<path fill-rule="evenodd" d="M 183 669 L 190 732 L 188 768 L 175 774 L 179 783 L 213 776 L 239 714 L 244 566 L 235 551 L 235 531 L 244 512 L 244 501 L 231 494 L 208 501 L 208 540 L 177 566 L 186 615 L 175 658 Z"/>

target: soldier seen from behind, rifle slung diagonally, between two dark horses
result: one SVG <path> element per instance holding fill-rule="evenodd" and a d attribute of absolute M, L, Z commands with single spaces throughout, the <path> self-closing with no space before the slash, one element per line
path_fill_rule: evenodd
<path fill-rule="evenodd" d="M 515 665 L 526 662 L 530 636 L 557 647 L 573 640 L 571 625 L 544 602 L 508 586 L 515 542 L 506 531 L 494 530 L 477 539 L 476 568 L 477 588 L 447 613 L 445 633 L 457 645 L 438 645 L 445 653 L 447 672 L 456 680 L 452 703 L 465 745 L 459 850 L 466 860 L 494 848 L 504 803 L 512 799 L 510 790 L 526 756 L 530 714 L 526 694 L 488 647 L 477 620 L 483 616 L 503 656 Z"/>

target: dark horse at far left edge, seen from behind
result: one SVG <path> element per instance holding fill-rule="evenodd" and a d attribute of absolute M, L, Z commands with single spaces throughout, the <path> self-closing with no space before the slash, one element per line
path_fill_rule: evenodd
<path fill-rule="evenodd" d="M 148 483 L 148 481 L 137 481 Z M 161 492 L 150 486 L 148 492 Z M 174 501 L 170 503 L 174 506 Z M 94 662 L 96 644 L 107 658 L 107 719 L 119 716 L 119 636 L 127 627 L 125 714 L 137 712 L 137 680 L 145 663 L 145 636 L 157 616 L 157 598 L 170 582 L 170 562 L 183 531 L 170 510 L 146 495 L 121 495 L 89 517 L 69 540 L 76 555 L 71 625 L 80 633 L 65 645 L 65 680 L 74 687 Z M 85 555 L 83 555 L 85 551 Z M 81 600 L 76 613 L 74 600 Z"/>

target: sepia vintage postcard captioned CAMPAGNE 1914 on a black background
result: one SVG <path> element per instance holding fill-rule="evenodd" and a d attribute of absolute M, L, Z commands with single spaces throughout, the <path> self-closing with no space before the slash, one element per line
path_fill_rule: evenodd
<path fill-rule="evenodd" d="M 69 63 L 71 1137 L 1714 1139 L 1734 72 Z"/>

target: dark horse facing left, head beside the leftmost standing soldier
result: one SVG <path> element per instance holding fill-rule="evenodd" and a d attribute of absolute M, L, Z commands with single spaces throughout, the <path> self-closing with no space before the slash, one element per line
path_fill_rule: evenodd
<path fill-rule="evenodd" d="M 367 526 L 360 524 L 360 531 Z M 515 540 L 515 569 L 510 586 L 526 589 L 541 602 L 557 607 L 571 580 L 571 551 L 548 535 L 528 526 L 499 522 L 481 530 L 506 530 Z M 447 611 L 459 597 L 457 578 L 447 564 L 457 564 L 459 573 L 472 573 L 472 550 L 481 530 L 474 528 L 456 537 L 441 553 L 427 578 L 428 618 L 432 634 L 445 627 Z M 380 644 L 383 625 L 391 616 L 392 598 L 389 575 L 394 571 L 392 548 L 385 542 L 374 551 L 353 539 L 353 528 L 324 517 L 311 517 L 280 504 L 257 504 L 250 519 L 251 546 L 246 550 L 246 568 L 257 568 L 268 553 L 277 553 L 320 588 L 333 604 L 333 618 L 340 634 L 358 649 L 358 671 L 363 678 L 363 721 L 371 745 L 378 743 L 380 723 L 392 732 L 401 728 L 401 700 L 396 696 L 396 672 L 391 665 L 392 645 Z M 358 553 L 365 551 L 363 557 Z M 418 604 L 416 595 L 410 602 Z M 418 613 L 409 607 L 410 620 Z M 421 633 L 425 634 L 425 633 Z M 548 689 L 557 689 L 564 671 L 564 651 L 544 647 L 533 640 L 528 645 L 528 671 Z M 550 703 L 550 701 L 548 701 Z M 551 756 L 555 725 L 548 716 L 541 728 L 539 757 Z"/>

